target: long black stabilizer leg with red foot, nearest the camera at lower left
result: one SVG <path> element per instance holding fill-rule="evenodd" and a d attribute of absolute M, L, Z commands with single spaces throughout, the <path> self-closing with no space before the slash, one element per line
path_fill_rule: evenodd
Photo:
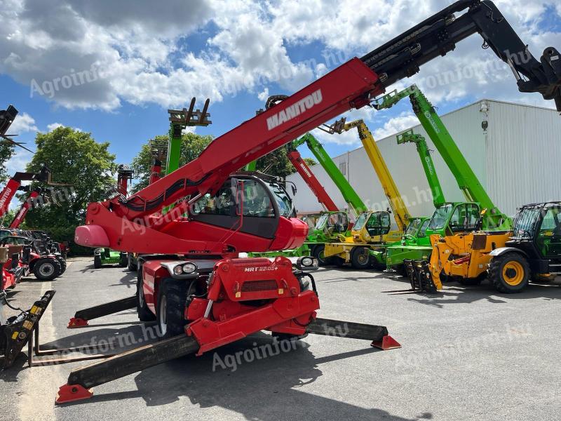
<path fill-rule="evenodd" d="M 165 363 L 180 356 L 198 351 L 198 342 L 187 335 L 145 345 L 104 361 L 76 368 L 68 376 L 66 385 L 60 387 L 55 403 L 67 403 L 87 399 L 93 395 L 92 387 L 119 379 L 137 371 Z"/>

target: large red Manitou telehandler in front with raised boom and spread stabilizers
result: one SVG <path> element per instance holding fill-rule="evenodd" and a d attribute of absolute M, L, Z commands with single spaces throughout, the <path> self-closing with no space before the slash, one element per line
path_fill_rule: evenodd
<path fill-rule="evenodd" d="M 492 2 L 459 1 L 216 138 L 197 159 L 137 194 L 90 203 L 86 225 L 76 229 L 76 243 L 158 254 L 143 257 L 137 298 L 82 314 L 113 314 L 136 301 L 139 316 L 157 319 L 167 339 L 72 370 L 57 402 L 86 399 L 95 385 L 179 356 L 203 354 L 259 330 L 294 337 L 329 335 L 345 326 L 347 338 L 387 338 L 381 326 L 316 319 L 318 291 L 305 272 L 316 267 L 313 258 L 300 258 L 297 269 L 282 257 L 273 262 L 236 258 L 245 250 L 295 248 L 304 242 L 308 229 L 292 218 L 292 203 L 282 186 L 233 172 L 351 108 L 369 105 L 392 83 L 418 72 L 420 65 L 452 51 L 456 41 L 475 32 L 511 64 L 515 74 L 524 74 L 527 80 L 518 78 L 521 91 L 555 99 L 561 111 L 557 51 L 548 48 L 538 62 Z M 518 53 L 528 60 L 522 64 L 513 60 Z M 246 189 L 255 194 L 245 196 Z M 173 208 L 175 219 L 152 216 L 180 199 Z M 5 366 L 36 332 L 53 294 L 48 291 L 31 312 L 3 326 Z M 384 341 L 379 345 L 383 347 Z"/>

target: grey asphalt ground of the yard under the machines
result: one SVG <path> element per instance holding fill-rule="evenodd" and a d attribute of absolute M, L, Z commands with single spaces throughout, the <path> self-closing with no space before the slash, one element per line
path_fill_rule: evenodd
<path fill-rule="evenodd" d="M 561 418 L 560 279 L 517 295 L 486 282 L 421 295 L 375 271 L 320 269 L 315 278 L 320 317 L 387 326 L 403 347 L 383 352 L 364 340 L 309 335 L 283 349 L 258 333 L 100 385 L 92 399 L 65 406 L 54 404 L 58 387 L 88 362 L 27 368 L 22 355 L 0 373 L 0 420 Z M 66 327 L 76 309 L 133 295 L 135 273 L 75 259 L 55 281 L 22 281 L 11 303 L 29 307 L 49 289 L 57 293 L 41 322 L 44 348 L 97 343 L 110 354 L 154 342 L 132 309 Z"/>

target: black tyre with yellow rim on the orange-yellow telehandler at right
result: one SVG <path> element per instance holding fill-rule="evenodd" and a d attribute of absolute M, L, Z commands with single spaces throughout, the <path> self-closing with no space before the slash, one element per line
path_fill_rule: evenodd
<path fill-rule="evenodd" d="M 528 286 L 529 265 L 520 253 L 506 253 L 492 258 L 489 282 L 501 293 L 520 293 Z"/>

